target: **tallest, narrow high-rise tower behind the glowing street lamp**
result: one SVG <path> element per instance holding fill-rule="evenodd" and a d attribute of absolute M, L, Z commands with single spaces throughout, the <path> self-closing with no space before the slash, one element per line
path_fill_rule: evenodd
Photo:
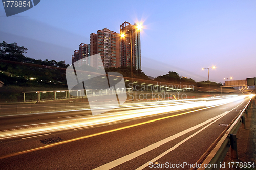
<path fill-rule="evenodd" d="M 120 26 L 120 34 L 124 37 L 120 38 L 120 62 L 121 66 L 131 66 L 131 56 L 133 67 L 136 70 L 141 69 L 141 52 L 140 52 L 140 30 L 137 25 L 132 25 L 129 22 L 124 22 Z M 132 54 L 131 54 L 131 44 Z"/>

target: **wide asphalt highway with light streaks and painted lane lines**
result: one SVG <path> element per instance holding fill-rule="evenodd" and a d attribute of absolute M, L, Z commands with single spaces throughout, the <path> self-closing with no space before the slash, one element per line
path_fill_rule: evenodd
<path fill-rule="evenodd" d="M 229 124 L 248 100 L 238 96 L 130 104 L 96 116 L 87 110 L 1 117 L 1 169 L 193 164 L 226 128 L 220 125 Z"/>

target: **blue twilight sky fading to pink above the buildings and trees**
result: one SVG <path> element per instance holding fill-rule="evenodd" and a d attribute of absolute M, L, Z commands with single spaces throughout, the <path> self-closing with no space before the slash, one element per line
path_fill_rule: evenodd
<path fill-rule="evenodd" d="M 50 1 L 6 17 L 0 5 L 0 42 L 28 48 L 25 56 L 71 64 L 90 33 L 123 22 L 143 23 L 142 71 L 176 71 L 196 81 L 256 77 L 256 1 Z"/>

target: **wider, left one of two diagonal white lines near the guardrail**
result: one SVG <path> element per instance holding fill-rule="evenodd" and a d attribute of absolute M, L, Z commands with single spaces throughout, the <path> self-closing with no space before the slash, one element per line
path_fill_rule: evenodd
<path fill-rule="evenodd" d="M 132 160 L 132 159 L 134 159 L 134 158 L 136 158 L 136 157 L 138 157 L 138 156 L 140 156 L 140 155 L 142 155 L 142 154 L 144 154 L 144 153 L 146 153 L 148 151 L 151 151 L 151 150 L 153 150 L 153 149 L 155 149 L 157 147 L 160 147 L 161 145 L 163 145 L 163 144 L 165 144 L 165 143 L 167 143 L 169 141 L 172 141 L 172 140 L 174 140 L 174 139 L 176 139 L 176 138 L 178 138 L 178 137 L 180 137 L 180 136 L 182 136 L 182 135 L 184 135 L 184 134 L 186 134 L 188 132 L 191 132 L 191 131 L 193 131 L 193 130 L 195 130 L 197 128 L 200 128 L 200 127 L 204 126 L 205 124 L 208 124 L 208 123 L 212 122 L 213 120 L 215 120 L 215 119 L 217 119 L 217 118 L 219 118 L 222 115 L 225 115 L 227 113 L 229 113 L 229 111 L 224 112 L 224 113 L 222 113 L 222 114 L 220 114 L 218 116 L 215 116 L 215 117 L 213 117 L 213 118 L 211 118 L 209 120 L 206 120 L 205 122 L 203 122 L 201 124 L 198 124 L 198 125 L 196 125 L 194 127 L 191 127 L 191 128 L 188 128 L 188 129 L 186 129 L 186 130 L 184 130 L 182 132 L 179 132 L 179 133 L 177 133 L 177 134 L 175 134 L 173 136 L 167 137 L 167 138 L 165 138 L 163 140 L 160 140 L 160 141 L 158 141 L 156 143 L 153 143 L 153 144 L 151 144 L 151 145 L 149 145 L 149 146 L 147 146 L 145 148 L 142 148 L 142 149 L 140 149 L 138 151 L 135 151 L 135 152 L 133 152 L 133 153 L 131 153 L 129 155 L 123 156 L 123 157 L 121 157 L 119 159 L 116 159 L 116 160 L 114 160 L 112 162 L 109 162 L 109 163 L 106 163 L 106 164 L 104 164 L 102 166 L 99 166 L 99 167 L 97 167 L 95 169 L 111 169 L 111 168 L 114 168 L 114 167 L 116 167 L 116 166 L 118 166 L 118 165 L 120 165 L 120 164 L 122 164 L 124 162 L 127 162 L 129 160 Z"/>

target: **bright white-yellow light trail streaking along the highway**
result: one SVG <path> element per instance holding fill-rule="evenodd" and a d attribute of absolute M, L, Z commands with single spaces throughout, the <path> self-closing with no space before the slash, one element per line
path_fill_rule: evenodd
<path fill-rule="evenodd" d="M 76 120 L 76 122 L 60 121 L 58 123 L 61 123 L 61 124 L 57 124 L 57 125 L 45 125 L 45 126 L 39 126 L 39 127 L 30 127 L 30 128 L 2 131 L 0 132 L 0 139 L 19 137 L 19 136 L 25 136 L 25 135 L 37 135 L 37 134 L 46 133 L 46 132 L 49 133 L 49 132 L 69 130 L 69 129 L 78 129 L 82 127 L 96 126 L 101 124 L 109 124 L 109 123 L 119 122 L 127 119 L 133 119 L 133 118 L 138 118 L 143 116 L 155 115 L 160 113 L 168 113 L 172 111 L 180 111 L 180 110 L 192 109 L 192 108 L 198 108 L 198 107 L 205 107 L 205 106 L 215 107 L 215 106 L 223 105 L 233 101 L 237 101 L 240 99 L 244 99 L 246 96 L 247 95 L 236 96 L 233 98 L 212 100 L 212 101 L 197 101 L 197 102 L 189 102 L 189 103 L 179 103 L 178 105 L 164 105 L 162 107 L 154 106 L 150 108 L 136 109 L 136 110 L 130 110 L 130 111 L 119 111 L 115 113 L 91 116 L 90 118 L 78 119 L 79 121 Z M 204 109 L 207 109 L 207 108 L 210 108 L 210 107 L 206 107 Z M 182 115 L 182 114 L 183 113 L 179 115 Z"/>

